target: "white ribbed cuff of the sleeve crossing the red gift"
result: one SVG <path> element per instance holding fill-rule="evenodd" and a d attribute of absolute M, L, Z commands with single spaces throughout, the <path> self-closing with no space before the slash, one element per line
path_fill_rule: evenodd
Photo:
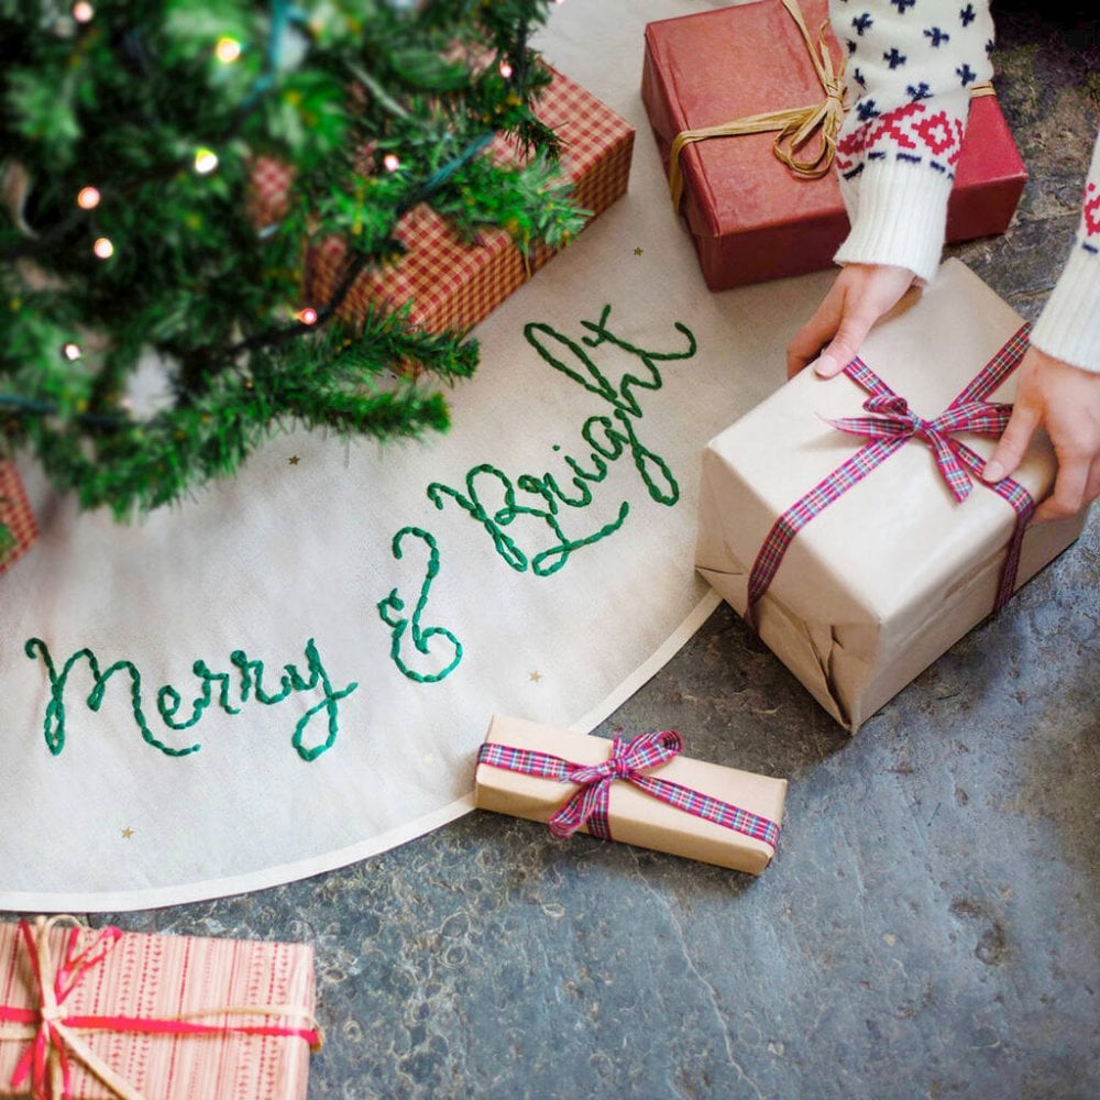
<path fill-rule="evenodd" d="M 931 282 L 944 250 L 952 180 L 923 165 L 867 161 L 840 189 L 851 231 L 833 258 L 908 267 Z"/>

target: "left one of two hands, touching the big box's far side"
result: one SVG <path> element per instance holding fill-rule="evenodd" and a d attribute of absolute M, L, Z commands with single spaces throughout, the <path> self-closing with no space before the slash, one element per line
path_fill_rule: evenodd
<path fill-rule="evenodd" d="M 787 376 L 813 363 L 823 378 L 839 374 L 858 354 L 871 327 L 912 286 L 908 267 L 848 264 L 813 317 L 787 349 Z"/>

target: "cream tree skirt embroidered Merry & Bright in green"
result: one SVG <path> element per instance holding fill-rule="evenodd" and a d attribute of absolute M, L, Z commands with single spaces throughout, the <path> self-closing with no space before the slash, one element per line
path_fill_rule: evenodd
<path fill-rule="evenodd" d="M 705 7 L 554 8 L 547 58 L 637 128 L 630 190 L 481 327 L 449 435 L 288 433 L 132 527 L 21 465 L 42 538 L 0 579 L 0 908 L 384 850 L 470 807 L 494 712 L 591 728 L 713 608 L 701 451 L 782 383 L 831 275 L 703 284 L 639 81 L 645 22 Z"/>

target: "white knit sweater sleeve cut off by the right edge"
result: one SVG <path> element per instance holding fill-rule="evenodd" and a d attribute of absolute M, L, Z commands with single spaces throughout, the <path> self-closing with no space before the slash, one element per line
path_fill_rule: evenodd
<path fill-rule="evenodd" d="M 1100 133 L 1069 260 L 1031 340 L 1047 355 L 1100 374 Z"/>

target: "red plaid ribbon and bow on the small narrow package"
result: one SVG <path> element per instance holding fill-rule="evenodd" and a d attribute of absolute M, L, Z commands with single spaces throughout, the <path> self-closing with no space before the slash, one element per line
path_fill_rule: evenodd
<path fill-rule="evenodd" d="M 774 849 L 779 843 L 779 825 L 776 822 L 680 783 L 645 774 L 650 768 L 660 767 L 678 756 L 682 747 L 683 740 L 674 729 L 639 734 L 629 741 L 616 737 L 612 741 L 610 756 L 603 763 L 581 765 L 550 752 L 486 741 L 477 752 L 477 762 L 540 779 L 556 779 L 560 783 L 579 784 L 580 790 L 562 803 L 547 822 L 550 834 L 559 839 L 587 826 L 592 836 L 610 840 L 610 785 L 617 779 L 625 779 L 676 810 L 763 840 Z"/>

